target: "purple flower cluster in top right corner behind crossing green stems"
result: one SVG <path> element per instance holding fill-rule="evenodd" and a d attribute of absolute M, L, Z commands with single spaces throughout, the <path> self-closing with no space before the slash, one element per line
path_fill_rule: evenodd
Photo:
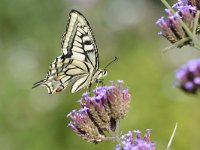
<path fill-rule="evenodd" d="M 182 20 L 191 32 L 194 29 L 194 20 L 197 10 L 199 10 L 200 1 L 199 0 L 179 0 L 174 4 L 173 8 L 176 13 L 173 14 L 169 9 L 166 9 L 167 18 L 161 17 L 157 20 L 156 24 L 160 26 L 161 31 L 159 35 L 164 36 L 171 43 L 176 43 L 181 39 L 187 38 L 188 34 L 183 29 L 180 20 Z M 199 33 L 200 25 L 197 26 L 196 33 Z M 192 44 L 191 39 L 185 41 L 182 47 L 187 44 Z"/>

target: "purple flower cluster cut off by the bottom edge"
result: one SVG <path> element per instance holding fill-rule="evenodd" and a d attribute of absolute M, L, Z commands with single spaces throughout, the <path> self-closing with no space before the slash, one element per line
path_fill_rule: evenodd
<path fill-rule="evenodd" d="M 122 143 L 116 146 L 116 150 L 155 150 L 155 143 L 150 141 L 150 131 L 150 129 L 147 129 L 144 138 L 142 138 L 139 130 L 133 131 L 136 134 L 135 138 L 133 132 L 129 131 L 122 135 Z"/>

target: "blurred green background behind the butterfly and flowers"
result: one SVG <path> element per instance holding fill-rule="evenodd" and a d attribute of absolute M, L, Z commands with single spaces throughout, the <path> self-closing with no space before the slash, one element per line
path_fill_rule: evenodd
<path fill-rule="evenodd" d="M 169 42 L 157 35 L 155 21 L 165 14 L 159 0 L 1 0 L 0 149 L 114 149 L 113 142 L 87 143 L 67 127 L 66 115 L 80 107 L 76 101 L 85 90 L 71 94 L 68 88 L 48 95 L 44 87 L 31 89 L 61 54 L 71 9 L 90 22 L 101 68 L 114 56 L 119 59 L 105 79 L 107 84 L 124 80 L 133 97 L 121 131 L 144 133 L 150 128 L 160 150 L 166 148 L 178 122 L 172 149 L 198 150 L 199 96 L 174 88 L 173 81 L 179 65 L 200 52 L 191 47 L 161 52 Z"/>

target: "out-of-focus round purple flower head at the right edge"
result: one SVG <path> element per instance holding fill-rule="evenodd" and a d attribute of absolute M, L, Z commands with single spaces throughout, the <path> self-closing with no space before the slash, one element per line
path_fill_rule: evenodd
<path fill-rule="evenodd" d="M 176 71 L 176 86 L 195 94 L 200 89 L 200 59 L 193 59 Z"/>

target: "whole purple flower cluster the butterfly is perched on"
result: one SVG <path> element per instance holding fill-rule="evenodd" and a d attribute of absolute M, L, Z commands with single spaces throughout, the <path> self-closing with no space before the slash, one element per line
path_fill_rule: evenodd
<path fill-rule="evenodd" d="M 122 88 L 123 81 L 116 85 L 100 86 L 94 89 L 94 96 L 88 92 L 82 95 L 79 103 L 82 109 L 69 113 L 72 121 L 69 126 L 83 139 L 99 143 L 103 141 L 104 131 L 114 131 L 116 121 L 128 112 L 131 95 L 128 88 Z"/>

